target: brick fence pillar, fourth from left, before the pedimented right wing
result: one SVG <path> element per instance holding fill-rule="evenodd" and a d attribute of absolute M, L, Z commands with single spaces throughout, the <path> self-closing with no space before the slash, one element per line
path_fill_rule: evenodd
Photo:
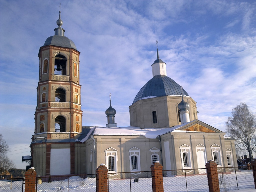
<path fill-rule="evenodd" d="M 209 192 L 219 192 L 220 185 L 217 164 L 214 161 L 210 160 L 205 164 L 205 167 L 207 169 Z"/>

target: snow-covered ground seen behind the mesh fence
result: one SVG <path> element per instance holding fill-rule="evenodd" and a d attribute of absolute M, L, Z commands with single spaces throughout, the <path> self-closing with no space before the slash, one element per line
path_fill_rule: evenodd
<path fill-rule="evenodd" d="M 237 190 L 236 185 L 236 174 L 224 175 L 225 182 L 220 185 L 221 191 L 237 191 L 237 192 L 252 192 L 256 191 L 253 183 L 252 171 L 237 172 L 239 189 Z M 54 179 L 54 178 L 52 178 Z M 168 176 L 163 178 L 164 191 L 186 191 L 185 176 Z M 66 192 L 69 191 L 85 191 L 95 192 L 95 178 L 82 179 L 79 176 L 72 176 L 65 180 L 52 181 L 51 183 L 42 182 L 37 185 L 38 192 Z M 22 181 L 12 182 L 12 189 L 10 189 L 10 182 L 0 180 L 0 191 L 1 192 L 21 192 Z M 69 189 L 67 188 L 69 186 Z M 138 182 L 134 182 L 134 179 L 109 179 L 109 192 L 123 192 L 123 191 L 152 191 L 152 180 L 151 178 L 139 178 Z M 187 176 L 187 188 L 188 191 L 209 191 L 207 176 L 206 175 L 193 175 Z"/>

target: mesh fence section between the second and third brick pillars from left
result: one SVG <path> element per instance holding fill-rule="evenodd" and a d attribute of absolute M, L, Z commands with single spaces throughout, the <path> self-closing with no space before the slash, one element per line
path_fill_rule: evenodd
<path fill-rule="evenodd" d="M 151 171 L 108 173 L 109 192 L 152 191 Z"/>

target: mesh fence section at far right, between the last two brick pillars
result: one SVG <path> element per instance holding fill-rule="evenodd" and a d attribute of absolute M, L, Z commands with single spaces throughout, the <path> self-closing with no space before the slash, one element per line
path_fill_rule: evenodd
<path fill-rule="evenodd" d="M 247 169 L 247 168 L 246 168 Z M 252 167 L 218 167 L 220 191 L 255 189 Z"/>

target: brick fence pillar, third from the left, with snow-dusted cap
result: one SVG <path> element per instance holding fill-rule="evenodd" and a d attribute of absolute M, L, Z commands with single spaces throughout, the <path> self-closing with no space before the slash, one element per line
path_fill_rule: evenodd
<path fill-rule="evenodd" d="M 163 166 L 156 161 L 150 167 L 152 171 L 152 188 L 153 192 L 164 192 L 163 183 Z"/>

